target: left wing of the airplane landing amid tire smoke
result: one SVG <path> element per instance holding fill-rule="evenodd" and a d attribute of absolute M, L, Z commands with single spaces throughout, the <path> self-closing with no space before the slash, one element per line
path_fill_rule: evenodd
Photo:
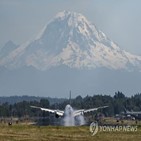
<path fill-rule="evenodd" d="M 36 108 L 36 109 L 40 109 L 42 111 L 46 111 L 49 113 L 53 113 L 53 114 L 57 114 L 59 116 L 63 116 L 64 115 L 64 111 L 61 110 L 52 110 L 52 109 L 47 109 L 47 108 L 42 108 L 42 107 L 37 107 L 37 106 L 30 106 L 31 108 Z"/>

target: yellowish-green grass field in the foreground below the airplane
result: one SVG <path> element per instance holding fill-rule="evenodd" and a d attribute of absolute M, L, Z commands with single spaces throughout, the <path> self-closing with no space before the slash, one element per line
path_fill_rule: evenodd
<path fill-rule="evenodd" d="M 98 132 L 89 127 L 0 125 L 0 141 L 141 141 L 141 127 L 136 132 Z"/>

